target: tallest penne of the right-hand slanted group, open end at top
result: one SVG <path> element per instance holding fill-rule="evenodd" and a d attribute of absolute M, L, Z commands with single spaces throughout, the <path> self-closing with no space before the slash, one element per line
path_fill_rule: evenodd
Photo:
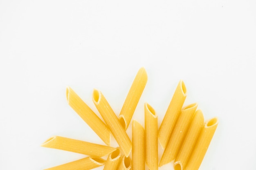
<path fill-rule="evenodd" d="M 162 148 L 166 147 L 167 141 L 170 138 L 171 132 L 175 125 L 177 118 L 179 117 L 180 110 L 186 99 L 186 86 L 182 80 L 180 80 L 171 102 L 164 115 L 164 119 L 158 130 L 158 139 Z"/>

